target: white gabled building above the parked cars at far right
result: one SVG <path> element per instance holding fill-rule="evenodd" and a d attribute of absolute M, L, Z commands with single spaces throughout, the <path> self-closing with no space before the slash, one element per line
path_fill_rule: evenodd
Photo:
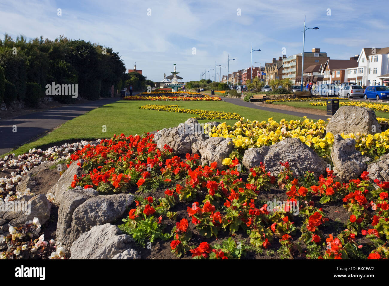
<path fill-rule="evenodd" d="M 389 47 L 363 48 L 358 58 L 358 67 L 347 69 L 347 81 L 361 86 L 387 85 L 385 75 L 389 73 Z"/>

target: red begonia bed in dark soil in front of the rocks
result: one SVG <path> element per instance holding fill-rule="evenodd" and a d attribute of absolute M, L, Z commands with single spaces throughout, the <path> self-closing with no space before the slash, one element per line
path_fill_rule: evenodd
<path fill-rule="evenodd" d="M 202 166 L 196 154 L 181 159 L 168 146 L 156 149 L 152 137 L 122 134 L 71 157 L 83 158 L 87 173 L 74 184 L 140 192 L 119 225 L 140 249 L 159 242 L 177 257 L 195 259 L 239 259 L 272 249 L 281 258 L 389 258 L 389 182 L 375 181 L 375 189 L 364 172 L 341 184 L 329 170 L 317 181 L 310 174 L 299 180 L 287 162 L 278 178 L 264 165 L 247 177 L 237 158 L 224 160 L 227 170 L 217 169 L 216 162 Z M 270 206 L 266 200 L 276 189 L 284 202 Z M 347 219 L 335 221 L 324 211 L 328 202 L 338 205 L 336 212 L 349 212 Z"/>

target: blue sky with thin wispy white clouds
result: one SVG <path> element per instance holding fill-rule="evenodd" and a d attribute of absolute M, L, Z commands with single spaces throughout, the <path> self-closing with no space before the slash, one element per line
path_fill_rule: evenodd
<path fill-rule="evenodd" d="M 0 0 L 0 32 L 13 38 L 23 34 L 53 40 L 65 35 L 90 40 L 113 47 L 127 69 L 136 61 L 152 81 L 169 75 L 173 63 L 189 81 L 200 79 L 215 61 L 227 66 L 228 54 L 235 58 L 230 71 L 250 67 L 251 42 L 261 49 L 253 53 L 253 63 L 264 65 L 282 56 L 282 48 L 287 56 L 301 53 L 304 14 L 307 27 L 319 27 L 306 32 L 305 51 L 320 47 L 331 59 L 349 59 L 362 47 L 388 47 L 387 5 L 386 0 Z M 211 79 L 214 75 L 212 70 Z"/>

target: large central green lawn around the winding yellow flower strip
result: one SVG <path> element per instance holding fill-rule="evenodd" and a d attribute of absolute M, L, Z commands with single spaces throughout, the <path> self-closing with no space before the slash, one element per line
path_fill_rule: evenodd
<path fill-rule="evenodd" d="M 227 102 L 176 102 L 176 101 L 126 101 L 107 104 L 92 111 L 67 121 L 59 128 L 54 129 L 46 136 L 28 144 L 25 144 L 11 153 L 23 154 L 32 148 L 47 149 L 48 147 L 63 144 L 65 142 L 77 142 L 80 139 L 101 139 L 110 138 L 114 134 L 124 133 L 126 135 L 142 134 L 154 130 L 177 126 L 179 123 L 186 121 L 196 114 L 184 114 L 165 111 L 141 110 L 140 106 L 145 104 L 164 104 L 180 105 L 183 108 L 215 110 L 225 112 L 237 112 L 250 120 L 267 120 L 273 117 L 274 120 L 280 121 L 300 119 L 295 116 L 289 116 L 282 113 L 267 112 L 259 109 L 238 106 Z M 205 123 L 211 120 L 200 120 Z M 216 120 L 233 125 L 236 120 Z M 106 126 L 106 132 L 103 131 L 103 125 Z"/>

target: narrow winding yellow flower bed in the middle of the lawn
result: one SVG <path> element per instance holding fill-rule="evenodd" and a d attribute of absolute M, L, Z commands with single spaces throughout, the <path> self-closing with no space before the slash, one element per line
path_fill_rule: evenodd
<path fill-rule="evenodd" d="M 223 112 L 223 111 L 210 111 L 201 109 L 187 109 L 179 108 L 179 105 L 158 105 L 158 104 L 147 104 L 140 107 L 140 109 L 168 111 L 168 112 L 180 112 L 198 114 L 196 119 L 239 119 L 241 116 L 237 113 Z"/>

